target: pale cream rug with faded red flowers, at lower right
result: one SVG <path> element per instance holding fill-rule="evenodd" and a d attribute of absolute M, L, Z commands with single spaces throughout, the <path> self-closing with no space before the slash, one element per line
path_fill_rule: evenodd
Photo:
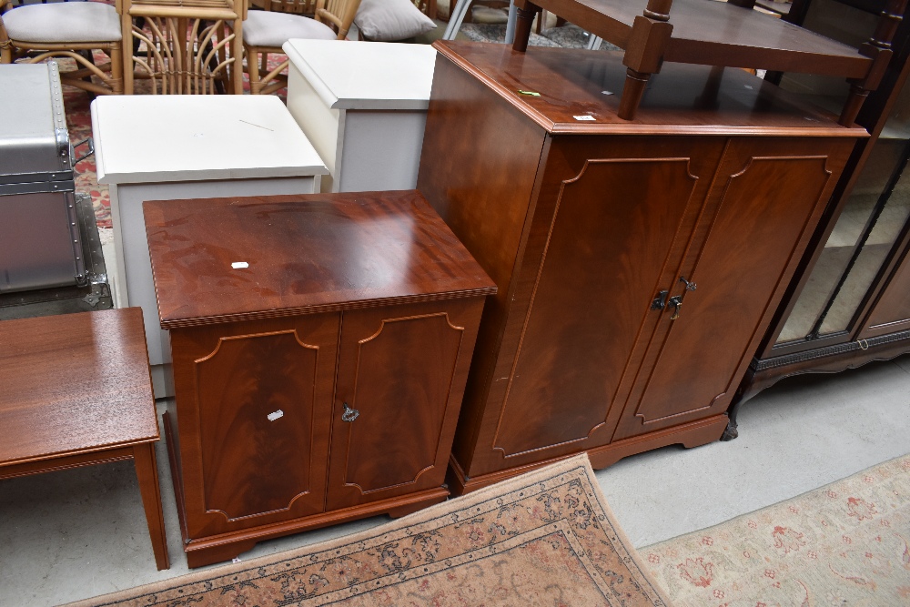
<path fill-rule="evenodd" d="M 910 455 L 641 553 L 677 607 L 910 605 Z"/>

